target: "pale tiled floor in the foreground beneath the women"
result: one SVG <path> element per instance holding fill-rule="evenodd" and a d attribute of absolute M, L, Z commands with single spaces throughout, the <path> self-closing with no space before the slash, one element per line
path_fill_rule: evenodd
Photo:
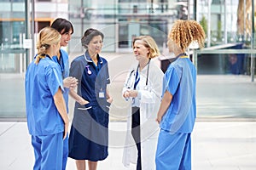
<path fill-rule="evenodd" d="M 120 129 L 125 122 L 110 122 Z M 196 122 L 192 135 L 192 162 L 195 170 L 255 170 L 256 122 Z M 99 170 L 130 170 L 123 167 L 123 149 L 109 147 L 109 156 Z M 33 150 L 26 122 L 0 122 L 0 169 L 32 169 Z M 67 170 L 75 169 L 68 159 Z"/>

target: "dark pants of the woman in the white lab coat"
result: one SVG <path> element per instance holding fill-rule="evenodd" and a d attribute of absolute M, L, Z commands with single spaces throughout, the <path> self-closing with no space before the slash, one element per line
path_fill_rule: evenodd
<path fill-rule="evenodd" d="M 141 160 L 140 108 L 138 107 L 132 107 L 131 134 L 137 145 L 137 170 L 141 170 L 142 160 Z"/>

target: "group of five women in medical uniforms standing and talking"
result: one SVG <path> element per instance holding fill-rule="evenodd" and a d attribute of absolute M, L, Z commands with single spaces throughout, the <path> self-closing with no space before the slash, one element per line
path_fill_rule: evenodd
<path fill-rule="evenodd" d="M 34 169 L 65 169 L 69 156 L 76 160 L 78 170 L 85 169 L 86 162 L 92 170 L 108 156 L 108 111 L 113 99 L 108 92 L 108 61 L 100 55 L 104 35 L 92 28 L 84 31 L 85 53 L 73 59 L 69 68 L 67 52 L 61 46 L 67 46 L 72 34 L 73 26 L 65 19 L 40 31 L 38 54 L 26 71 L 26 115 Z M 165 75 L 154 62 L 160 55 L 154 39 L 133 39 L 138 62 L 131 65 L 122 92 L 131 105 L 125 167 L 132 162 L 137 170 L 191 169 L 196 71 L 185 51 L 191 42 L 202 47 L 204 32 L 193 20 L 177 20 L 168 39 L 169 50 L 177 58 Z M 76 100 L 69 138 L 68 94 Z"/>

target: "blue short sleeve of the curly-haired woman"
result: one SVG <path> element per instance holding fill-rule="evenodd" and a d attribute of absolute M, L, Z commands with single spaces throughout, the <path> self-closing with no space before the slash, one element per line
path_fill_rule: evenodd
<path fill-rule="evenodd" d="M 164 91 L 170 92 L 174 95 L 177 91 L 178 84 L 180 82 L 180 77 L 177 75 L 177 71 L 173 67 L 170 67 L 165 74 L 164 82 L 166 83 Z"/>

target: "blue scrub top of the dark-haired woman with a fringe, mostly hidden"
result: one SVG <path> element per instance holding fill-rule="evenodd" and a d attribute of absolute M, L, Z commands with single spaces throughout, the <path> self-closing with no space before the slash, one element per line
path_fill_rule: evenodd
<path fill-rule="evenodd" d="M 60 60 L 57 58 L 57 56 L 54 56 L 52 59 L 58 63 L 61 66 L 61 75 L 62 79 L 69 77 L 69 61 L 68 61 L 68 54 L 65 50 L 60 49 Z M 64 88 L 63 91 L 63 98 L 65 99 L 67 113 L 68 113 L 68 93 L 69 88 Z"/>

